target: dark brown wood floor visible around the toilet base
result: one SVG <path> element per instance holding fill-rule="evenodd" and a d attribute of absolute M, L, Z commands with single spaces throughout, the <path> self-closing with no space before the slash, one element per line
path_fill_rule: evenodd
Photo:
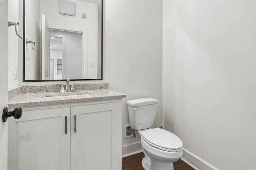
<path fill-rule="evenodd" d="M 141 165 L 142 158 L 144 158 L 144 154 L 142 152 L 122 158 L 122 170 L 144 170 Z M 173 165 L 174 170 L 194 170 L 182 160 L 174 162 Z"/>

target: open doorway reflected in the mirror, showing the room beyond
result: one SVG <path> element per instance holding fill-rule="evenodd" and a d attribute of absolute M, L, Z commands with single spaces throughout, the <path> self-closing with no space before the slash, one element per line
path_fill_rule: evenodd
<path fill-rule="evenodd" d="M 79 79 L 82 74 L 82 33 L 50 29 L 50 80 Z"/>

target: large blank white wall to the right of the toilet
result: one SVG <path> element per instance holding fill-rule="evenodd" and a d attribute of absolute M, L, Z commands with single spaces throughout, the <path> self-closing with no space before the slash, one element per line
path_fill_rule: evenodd
<path fill-rule="evenodd" d="M 164 0 L 164 128 L 200 169 L 256 168 L 255 9 L 255 0 Z"/>

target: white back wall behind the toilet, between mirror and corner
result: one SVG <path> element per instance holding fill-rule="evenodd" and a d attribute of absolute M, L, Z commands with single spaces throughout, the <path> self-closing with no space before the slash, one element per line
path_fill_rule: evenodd
<path fill-rule="evenodd" d="M 162 123 L 162 0 L 106 0 L 103 78 L 125 93 L 122 124 L 129 124 L 127 100 L 156 98 L 154 127 Z M 124 127 L 123 127 L 124 128 Z M 124 134 L 123 134 L 124 135 Z M 140 141 L 124 139 L 122 145 Z M 123 152 L 124 154 L 124 152 Z"/>

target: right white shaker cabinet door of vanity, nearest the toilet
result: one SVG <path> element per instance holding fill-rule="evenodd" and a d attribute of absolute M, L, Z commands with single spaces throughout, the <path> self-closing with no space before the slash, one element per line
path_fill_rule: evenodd
<path fill-rule="evenodd" d="M 71 107 L 70 170 L 122 169 L 121 114 L 118 102 Z"/>

